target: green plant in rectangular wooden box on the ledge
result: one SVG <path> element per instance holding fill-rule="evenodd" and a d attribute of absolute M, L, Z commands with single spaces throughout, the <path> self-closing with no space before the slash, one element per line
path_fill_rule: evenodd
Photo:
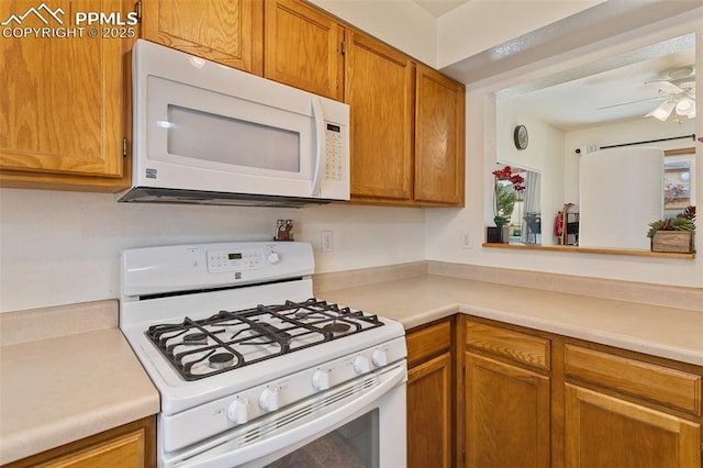
<path fill-rule="evenodd" d="M 651 238 L 651 252 L 690 254 L 695 232 L 695 207 L 687 207 L 676 218 L 649 223 L 647 237 Z"/>

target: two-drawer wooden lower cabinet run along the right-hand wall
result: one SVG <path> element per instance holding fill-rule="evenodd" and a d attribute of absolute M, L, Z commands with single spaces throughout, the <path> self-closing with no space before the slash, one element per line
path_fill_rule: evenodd
<path fill-rule="evenodd" d="M 457 466 L 703 467 L 703 367 L 467 315 L 457 337 Z"/>

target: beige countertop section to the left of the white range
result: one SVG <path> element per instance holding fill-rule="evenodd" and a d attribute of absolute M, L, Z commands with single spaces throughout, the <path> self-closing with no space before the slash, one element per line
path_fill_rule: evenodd
<path fill-rule="evenodd" d="M 0 464 L 153 415 L 118 301 L 0 314 Z"/>

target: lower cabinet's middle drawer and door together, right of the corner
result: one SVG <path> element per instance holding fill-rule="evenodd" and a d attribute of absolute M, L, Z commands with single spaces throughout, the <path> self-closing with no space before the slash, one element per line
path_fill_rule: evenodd
<path fill-rule="evenodd" d="M 467 467 L 549 467 L 549 339 L 465 321 Z"/>

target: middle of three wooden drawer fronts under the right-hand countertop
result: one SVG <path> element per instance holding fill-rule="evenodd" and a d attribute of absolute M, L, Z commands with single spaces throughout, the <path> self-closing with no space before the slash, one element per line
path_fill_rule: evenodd
<path fill-rule="evenodd" d="M 467 321 L 466 344 L 537 369 L 549 370 L 551 367 L 550 342 L 546 338 Z"/>

